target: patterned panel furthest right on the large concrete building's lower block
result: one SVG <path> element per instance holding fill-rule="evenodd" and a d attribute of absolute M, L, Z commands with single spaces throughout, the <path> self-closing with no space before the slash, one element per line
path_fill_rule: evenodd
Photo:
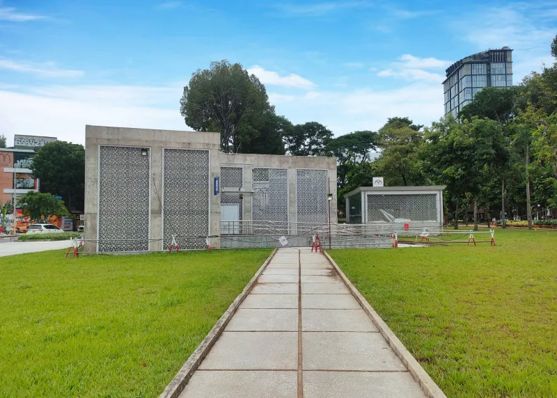
<path fill-rule="evenodd" d="M 296 170 L 296 221 L 324 225 L 329 221 L 329 170 Z"/>

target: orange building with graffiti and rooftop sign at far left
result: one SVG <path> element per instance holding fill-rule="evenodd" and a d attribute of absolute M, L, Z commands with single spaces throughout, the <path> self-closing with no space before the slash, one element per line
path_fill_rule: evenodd
<path fill-rule="evenodd" d="M 0 201 L 13 202 L 15 196 L 39 190 L 39 180 L 33 178 L 33 155 L 37 148 L 56 141 L 55 137 L 14 136 L 11 148 L 0 148 Z"/>

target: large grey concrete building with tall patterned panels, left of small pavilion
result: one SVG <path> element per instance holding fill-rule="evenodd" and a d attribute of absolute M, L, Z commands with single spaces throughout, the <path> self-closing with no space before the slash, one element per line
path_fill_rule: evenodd
<path fill-rule="evenodd" d="M 218 133 L 98 126 L 85 150 L 86 252 L 295 236 L 328 223 L 329 207 L 337 221 L 334 157 L 224 154 Z"/>

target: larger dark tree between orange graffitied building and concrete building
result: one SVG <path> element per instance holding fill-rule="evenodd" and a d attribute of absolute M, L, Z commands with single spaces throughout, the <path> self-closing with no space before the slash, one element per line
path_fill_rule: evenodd
<path fill-rule="evenodd" d="M 83 209 L 85 196 L 85 150 L 82 145 L 54 141 L 39 148 L 33 157 L 33 177 L 42 192 L 56 193 L 70 209 Z"/>

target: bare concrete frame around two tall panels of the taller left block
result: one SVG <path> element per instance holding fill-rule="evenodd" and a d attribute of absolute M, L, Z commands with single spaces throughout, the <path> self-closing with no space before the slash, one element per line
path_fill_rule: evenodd
<path fill-rule="evenodd" d="M 220 174 L 220 134 L 181 132 L 174 130 L 130 129 L 124 127 L 85 127 L 85 239 L 97 239 L 99 198 L 99 145 L 117 145 L 150 148 L 150 239 L 162 239 L 162 150 L 163 148 L 188 148 L 210 150 L 211 175 Z M 157 195 L 158 192 L 158 195 Z M 220 234 L 220 196 L 210 191 L 210 234 Z M 218 241 L 212 242 L 218 246 Z M 96 251 L 94 241 L 87 241 L 85 251 Z M 161 250 L 162 241 L 153 241 L 150 250 Z"/>

